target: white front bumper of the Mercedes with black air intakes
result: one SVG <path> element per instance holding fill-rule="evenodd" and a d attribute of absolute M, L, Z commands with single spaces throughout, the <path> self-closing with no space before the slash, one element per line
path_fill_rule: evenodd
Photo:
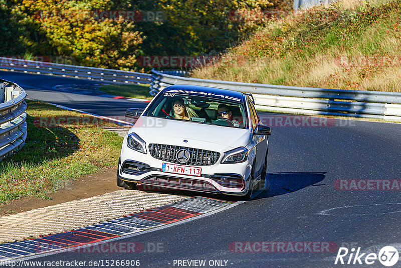
<path fill-rule="evenodd" d="M 137 183 L 139 187 L 155 188 L 154 190 L 176 189 L 236 196 L 244 196 L 248 193 L 253 159 L 249 158 L 243 163 L 221 164 L 224 152 L 230 148 L 217 145 L 211 147 L 210 144 L 198 146 L 195 141 L 192 141 L 193 146 L 190 147 L 220 152 L 220 158 L 214 165 L 191 165 L 191 167 L 202 168 L 201 176 L 198 177 L 162 172 L 163 163 L 169 163 L 168 161 L 152 157 L 148 145 L 146 145 L 146 154 L 132 150 L 126 146 L 126 140 L 127 136 L 124 138 L 118 163 L 118 177 L 123 181 Z M 172 144 L 185 146 L 179 144 L 178 140 L 173 141 Z M 224 178 L 226 178 L 225 181 Z"/>

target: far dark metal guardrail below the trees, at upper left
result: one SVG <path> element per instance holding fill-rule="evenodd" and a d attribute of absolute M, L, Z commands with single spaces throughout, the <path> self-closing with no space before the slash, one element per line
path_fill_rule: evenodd
<path fill-rule="evenodd" d="M 150 74 L 0 57 L 0 69 L 114 83 L 150 83 Z"/>

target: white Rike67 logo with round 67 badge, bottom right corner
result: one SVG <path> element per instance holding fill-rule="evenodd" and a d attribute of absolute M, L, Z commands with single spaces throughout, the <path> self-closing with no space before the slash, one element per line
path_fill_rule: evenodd
<path fill-rule="evenodd" d="M 349 255 L 348 255 L 349 253 Z M 392 266 L 398 261 L 398 250 L 393 246 L 384 246 L 379 253 L 360 253 L 360 247 L 351 248 L 340 247 L 337 252 L 334 264 L 373 264 L 376 260 L 384 266 Z"/>

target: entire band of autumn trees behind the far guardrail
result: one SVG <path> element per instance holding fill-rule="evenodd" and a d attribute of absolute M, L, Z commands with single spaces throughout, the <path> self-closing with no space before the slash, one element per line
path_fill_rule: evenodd
<path fill-rule="evenodd" d="M 0 0 L 6 36 L 0 54 L 61 56 L 77 65 L 138 70 L 138 56 L 220 53 L 266 23 L 247 14 L 280 1 Z M 102 11 L 162 12 L 164 19 L 111 18 L 100 16 Z"/>

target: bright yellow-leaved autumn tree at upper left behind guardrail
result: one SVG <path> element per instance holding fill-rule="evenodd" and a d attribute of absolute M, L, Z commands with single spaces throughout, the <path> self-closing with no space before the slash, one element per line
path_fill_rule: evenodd
<path fill-rule="evenodd" d="M 121 4 L 109 0 L 16 0 L 15 4 L 13 14 L 25 28 L 21 42 L 31 54 L 72 57 L 85 66 L 136 69 L 142 37 L 135 22 L 98 16 L 98 11 L 115 11 Z"/>

